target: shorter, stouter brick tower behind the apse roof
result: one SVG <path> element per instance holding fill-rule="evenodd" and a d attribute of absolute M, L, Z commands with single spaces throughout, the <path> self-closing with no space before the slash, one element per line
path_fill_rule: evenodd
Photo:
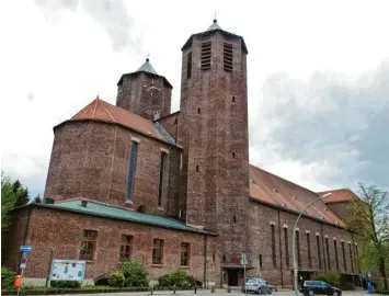
<path fill-rule="evenodd" d="M 117 82 L 116 105 L 150 121 L 170 114 L 173 87 L 157 73 L 149 58 Z"/>

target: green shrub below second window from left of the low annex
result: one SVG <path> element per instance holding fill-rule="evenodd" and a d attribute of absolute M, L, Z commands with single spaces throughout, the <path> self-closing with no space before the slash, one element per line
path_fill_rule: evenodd
<path fill-rule="evenodd" d="M 122 261 L 118 270 L 123 273 L 126 287 L 145 287 L 148 286 L 147 270 L 138 262 Z"/>

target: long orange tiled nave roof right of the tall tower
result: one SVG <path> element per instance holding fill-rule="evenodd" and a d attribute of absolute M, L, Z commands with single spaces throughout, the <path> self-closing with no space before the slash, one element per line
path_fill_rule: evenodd
<path fill-rule="evenodd" d="M 319 195 L 267 171 L 250 166 L 250 195 L 267 204 L 300 212 Z M 321 195 L 321 194 L 320 194 Z M 306 215 L 327 223 L 344 226 L 341 218 L 328 208 L 323 201 L 307 208 Z"/>

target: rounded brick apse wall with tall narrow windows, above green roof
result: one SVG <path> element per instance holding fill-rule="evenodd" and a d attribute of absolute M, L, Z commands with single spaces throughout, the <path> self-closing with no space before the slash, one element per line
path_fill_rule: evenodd
<path fill-rule="evenodd" d="M 126 204 L 131 137 L 140 140 L 131 202 Z M 141 136 L 119 126 L 98 122 L 68 122 L 55 130 L 47 173 L 45 197 L 56 201 L 87 197 L 116 206 L 163 214 L 168 206 L 168 190 L 162 208 L 158 207 L 161 148 L 170 150 L 171 184 L 176 180 L 176 153 L 169 145 Z M 170 156 L 164 170 L 164 186 L 169 185 Z M 175 166 L 175 167 L 174 167 Z"/>

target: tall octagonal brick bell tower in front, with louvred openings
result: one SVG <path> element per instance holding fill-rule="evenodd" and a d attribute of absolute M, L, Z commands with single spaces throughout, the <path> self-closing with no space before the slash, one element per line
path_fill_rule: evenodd
<path fill-rule="evenodd" d="M 179 138 L 186 223 L 219 234 L 218 261 L 240 264 L 249 207 L 247 55 L 244 39 L 216 20 L 182 47 Z"/>

